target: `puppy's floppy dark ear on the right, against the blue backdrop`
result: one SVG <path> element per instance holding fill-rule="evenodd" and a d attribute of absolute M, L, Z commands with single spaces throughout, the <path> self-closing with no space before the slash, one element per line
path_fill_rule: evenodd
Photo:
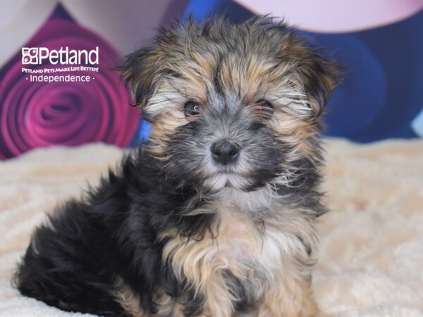
<path fill-rule="evenodd" d="M 314 118 L 324 112 L 333 89 L 341 82 L 342 67 L 324 58 L 320 51 L 310 51 L 302 67 L 302 82 Z"/>

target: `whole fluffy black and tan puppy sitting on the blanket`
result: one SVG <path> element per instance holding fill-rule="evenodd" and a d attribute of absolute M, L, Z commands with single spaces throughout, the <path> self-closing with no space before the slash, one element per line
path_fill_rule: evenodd
<path fill-rule="evenodd" d="M 122 67 L 148 144 L 35 230 L 25 296 L 102 316 L 314 316 L 337 68 L 285 24 L 188 21 Z"/>

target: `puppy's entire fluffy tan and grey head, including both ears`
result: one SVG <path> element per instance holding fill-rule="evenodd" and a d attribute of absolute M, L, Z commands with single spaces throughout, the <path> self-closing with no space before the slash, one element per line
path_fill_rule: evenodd
<path fill-rule="evenodd" d="M 255 190 L 318 164 L 319 115 L 336 68 L 283 24 L 162 30 L 128 56 L 123 77 L 153 125 L 154 155 L 198 189 Z"/>

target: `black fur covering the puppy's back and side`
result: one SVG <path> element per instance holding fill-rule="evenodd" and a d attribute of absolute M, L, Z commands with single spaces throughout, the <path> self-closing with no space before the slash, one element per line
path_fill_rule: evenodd
<path fill-rule="evenodd" d="M 184 285 L 162 265 L 157 235 L 168 228 L 198 233 L 212 216 L 181 216 L 194 208 L 195 191 L 165 180 L 161 170 L 140 148 L 87 197 L 56 209 L 32 235 L 14 281 L 20 292 L 61 309 L 102 316 L 127 316 L 111 296 L 118 276 L 137 290 L 145 311 L 154 312 L 156 290 L 178 297 Z M 187 316 L 201 304 L 190 306 Z"/>

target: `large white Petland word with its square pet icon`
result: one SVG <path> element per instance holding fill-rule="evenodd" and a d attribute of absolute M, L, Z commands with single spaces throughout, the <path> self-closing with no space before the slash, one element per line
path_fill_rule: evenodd
<path fill-rule="evenodd" d="M 51 65 L 81 65 L 99 64 L 99 46 L 87 51 L 86 49 L 69 49 L 68 46 L 60 49 L 48 49 L 47 47 L 23 47 L 23 65 L 42 65 L 49 61 Z"/>

